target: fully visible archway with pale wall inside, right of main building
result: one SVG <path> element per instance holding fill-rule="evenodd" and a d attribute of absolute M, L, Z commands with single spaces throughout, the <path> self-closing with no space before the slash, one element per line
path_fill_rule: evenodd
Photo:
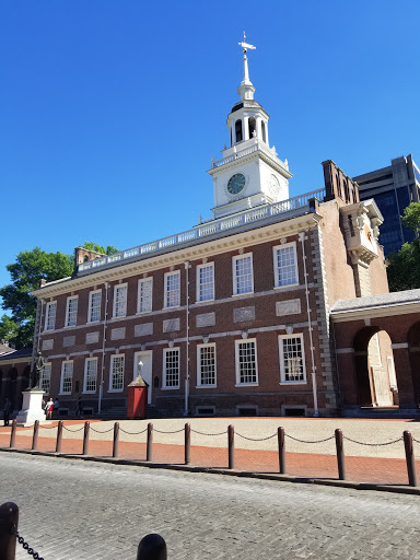
<path fill-rule="evenodd" d="M 361 406 L 398 405 L 397 376 L 389 335 L 364 327 L 354 337 L 354 364 Z"/>

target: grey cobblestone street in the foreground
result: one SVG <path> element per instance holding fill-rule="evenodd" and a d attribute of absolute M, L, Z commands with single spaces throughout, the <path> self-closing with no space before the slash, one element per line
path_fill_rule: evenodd
<path fill-rule="evenodd" d="M 45 560 L 420 559 L 416 495 L 0 454 L 1 502 Z M 20 547 L 16 559 L 27 553 Z"/>

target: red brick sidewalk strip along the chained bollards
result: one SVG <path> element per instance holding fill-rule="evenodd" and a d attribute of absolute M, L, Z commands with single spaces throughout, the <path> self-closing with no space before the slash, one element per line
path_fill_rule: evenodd
<path fill-rule="evenodd" d="M 91 421 L 92 425 L 97 425 Z M 81 421 L 66 421 L 65 425 L 70 430 L 80 427 Z M 50 424 L 56 427 L 57 422 Z M 73 427 L 73 428 L 72 428 Z M 70 431 L 69 430 L 69 431 Z M 0 428 L 0 447 L 10 445 L 10 428 Z M 51 430 L 51 436 L 38 438 L 37 450 L 42 452 L 55 453 L 56 439 L 52 436 L 56 430 Z M 28 428 L 18 428 L 15 448 L 31 450 L 33 430 Z M 112 457 L 113 454 L 113 433 L 106 441 L 90 440 L 89 455 L 96 457 Z M 144 443 L 119 442 L 119 457 L 125 459 L 145 460 L 145 434 L 142 434 Z M 74 433 L 71 438 L 62 439 L 61 453 L 82 456 L 83 431 Z M 153 463 L 156 464 L 184 464 L 184 446 L 177 444 L 153 443 Z M 191 445 L 190 465 L 197 467 L 228 468 L 228 448 Z M 420 460 L 417 462 L 417 468 Z M 401 458 L 385 458 L 370 456 L 347 456 L 347 479 L 357 482 L 372 482 L 383 485 L 407 485 L 406 462 Z M 244 450 L 235 448 L 235 468 L 237 470 L 255 472 L 278 472 L 278 453 L 264 450 Z M 311 454 L 311 453 L 287 453 L 288 475 L 298 477 L 328 478 L 337 479 L 337 459 L 335 455 Z"/>

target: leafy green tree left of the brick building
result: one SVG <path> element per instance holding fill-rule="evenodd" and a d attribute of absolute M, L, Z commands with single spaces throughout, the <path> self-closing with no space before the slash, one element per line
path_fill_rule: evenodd
<path fill-rule="evenodd" d="M 32 343 L 34 334 L 36 298 L 32 292 L 39 288 L 42 279 L 52 282 L 70 276 L 73 257 L 35 247 L 19 253 L 16 261 L 5 268 L 12 281 L 0 288 L 0 296 L 3 299 L 2 307 L 9 311 L 10 316 L 3 315 L 0 319 L 0 332 L 4 338 L 10 337 L 9 341 L 16 348 L 23 348 Z"/>

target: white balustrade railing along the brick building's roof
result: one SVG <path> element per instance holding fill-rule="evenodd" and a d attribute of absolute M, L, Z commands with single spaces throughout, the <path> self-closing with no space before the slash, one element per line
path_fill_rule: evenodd
<path fill-rule="evenodd" d="M 281 213 L 285 214 L 287 212 L 307 207 L 308 201 L 312 198 L 324 200 L 324 197 L 325 188 L 322 188 L 318 190 L 312 190 L 311 192 L 305 192 L 299 197 L 282 200 L 281 202 L 275 202 L 273 205 L 264 205 L 257 208 L 252 208 L 250 210 L 245 210 L 244 212 L 240 212 L 234 215 L 220 218 L 219 220 L 203 223 L 194 230 L 188 230 L 176 235 L 171 235 L 170 237 L 164 237 L 163 240 L 145 243 L 144 245 L 139 245 L 115 255 L 108 255 L 106 257 L 96 258 L 88 262 L 82 262 L 79 265 L 78 271 L 84 272 L 86 270 L 96 270 L 97 268 L 101 268 L 105 265 L 119 264 L 121 260 L 128 260 L 138 256 L 141 257 L 142 255 L 149 256 L 150 254 L 156 253 L 167 247 L 176 247 L 177 245 L 190 243 L 196 240 L 208 237 L 218 233 L 223 233 L 228 230 L 234 230 L 252 222 L 269 220 L 270 218 Z M 284 215 L 284 218 L 287 218 L 287 215 Z"/>

